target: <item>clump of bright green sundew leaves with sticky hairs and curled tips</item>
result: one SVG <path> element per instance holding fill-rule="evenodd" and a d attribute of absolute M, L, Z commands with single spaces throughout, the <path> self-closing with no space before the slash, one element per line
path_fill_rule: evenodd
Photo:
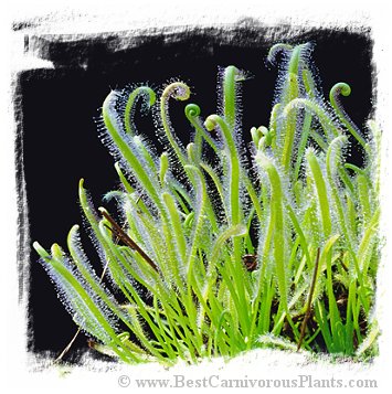
<path fill-rule="evenodd" d="M 116 158 L 118 212 L 94 207 L 80 182 L 88 234 L 102 259 L 93 270 L 71 228 L 67 252 L 34 248 L 60 298 L 92 345 L 127 363 L 234 356 L 256 348 L 307 350 L 365 360 L 377 354 L 374 294 L 380 258 L 381 132 L 349 118 L 337 83 L 329 100 L 310 62 L 311 45 L 274 45 L 279 60 L 269 125 L 244 142 L 244 72 L 219 76 L 219 111 L 184 147 L 169 105 L 189 100 L 182 82 L 157 97 L 149 86 L 113 90 L 99 131 Z M 165 151 L 133 120 L 142 100 Z M 258 126 L 258 125 L 256 125 Z M 354 142 L 363 166 L 350 163 Z M 246 155 L 247 152 L 247 155 Z M 99 278 L 100 276 L 100 278 Z"/>

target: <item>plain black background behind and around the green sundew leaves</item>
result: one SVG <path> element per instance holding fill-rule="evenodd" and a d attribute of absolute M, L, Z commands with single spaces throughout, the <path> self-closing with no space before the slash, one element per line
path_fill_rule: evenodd
<path fill-rule="evenodd" d="M 279 41 L 315 43 L 312 58 L 325 95 L 335 83 L 349 83 L 352 94 L 343 98 L 343 104 L 351 118 L 363 126 L 374 100 L 372 41 L 368 30 L 303 29 L 294 33 L 289 26 L 274 32 L 240 23 L 225 30 L 139 32 L 128 39 L 119 34 L 72 41 L 27 36 L 27 45 L 34 43 L 36 53 L 55 65 L 54 70 L 27 71 L 17 77 L 15 107 L 20 120 L 17 167 L 25 175 L 29 217 L 22 225 L 29 226 L 31 243 L 39 241 L 45 248 L 54 242 L 66 245 L 71 226 L 82 224 L 77 204 L 81 178 L 85 179 L 96 205 L 102 204 L 105 192 L 116 188 L 114 160 L 99 141 L 93 120 L 110 88 L 146 82 L 159 87 L 172 77 L 180 78 L 194 93 L 188 103 L 199 104 L 206 117 L 216 110 L 218 67 L 233 64 L 253 76 L 242 90 L 243 131 L 247 138 L 252 126 L 268 125 L 277 70 L 267 66 L 265 57 L 269 46 Z M 170 107 L 174 129 L 184 141 L 191 130 L 182 115 L 188 103 L 173 102 Z M 150 116 L 137 117 L 137 124 L 140 132 L 156 139 Z M 94 252 L 89 253 L 95 262 Z M 56 298 L 34 251 L 30 252 L 27 269 L 30 270 L 28 348 L 56 355 L 76 331 L 75 324 Z M 86 338 L 81 334 L 73 349 L 85 348 Z M 77 359 L 75 354 L 72 358 Z"/>

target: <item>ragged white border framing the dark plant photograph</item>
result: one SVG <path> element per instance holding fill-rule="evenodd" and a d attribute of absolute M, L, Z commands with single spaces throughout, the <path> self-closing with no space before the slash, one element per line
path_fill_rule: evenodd
<path fill-rule="evenodd" d="M 358 365 L 339 365 L 326 366 L 318 364 L 295 366 L 305 362 L 304 358 L 298 354 L 288 356 L 280 352 L 254 352 L 243 359 L 236 359 L 224 364 L 218 360 L 214 363 L 203 363 L 199 366 L 186 368 L 182 364 L 177 365 L 170 371 L 166 371 L 158 365 L 140 365 L 137 368 L 118 366 L 116 371 L 97 374 L 87 369 L 75 369 L 66 379 L 62 377 L 62 372 L 56 369 L 49 369 L 42 373 L 31 373 L 28 371 L 27 354 L 24 352 L 24 310 L 18 306 L 18 280 L 15 273 L 15 235 L 17 235 L 17 203 L 15 203 L 15 181 L 14 181 L 14 158 L 13 158 L 13 118 L 12 105 L 10 102 L 9 76 L 11 70 L 17 70 L 27 66 L 22 58 L 21 47 L 18 47 L 15 33 L 11 34 L 9 23 L 15 20 L 25 20 L 41 18 L 41 23 L 44 29 L 53 26 L 53 20 L 56 20 L 56 32 L 62 33 L 92 33 L 102 31 L 127 30 L 131 25 L 133 29 L 148 28 L 155 25 L 183 25 L 183 24 L 225 24 L 236 22 L 241 15 L 250 15 L 262 20 L 266 24 L 277 24 L 282 21 L 290 20 L 298 24 L 314 25 L 352 25 L 352 23 L 361 24 L 367 21 L 371 25 L 374 33 L 374 62 L 378 71 L 378 103 L 377 103 L 377 120 L 384 131 L 383 141 L 383 190 L 382 190 L 382 206 L 383 217 L 392 217 L 390 214 L 389 203 L 392 201 L 392 194 L 389 188 L 391 185 L 391 172 L 386 171 L 388 149 L 390 147 L 390 137 L 388 135 L 391 127 L 391 87 L 390 77 L 390 60 L 391 50 L 389 47 L 388 31 L 390 28 L 390 12 L 386 2 L 380 1 L 339 1 L 328 0 L 326 4 L 316 1 L 140 1 L 133 3 L 128 1 L 21 1 L 14 0 L 8 4 L 8 9 L 2 11 L 1 21 L 2 31 L 1 38 L 6 42 L 1 65 L 1 125 L 0 131 L 0 179 L 1 179 L 1 215 L 0 220 L 0 241 L 1 241 L 1 371 L 6 375 L 6 381 L 1 380 L 2 391 L 17 391 L 25 388 L 29 391 L 40 391 L 41 393 L 53 393 L 59 391 L 70 390 L 88 390 L 94 393 L 113 392 L 121 390 L 117 384 L 117 379 L 120 374 L 129 374 L 129 376 L 152 377 L 152 374 L 158 377 L 171 376 L 176 373 L 187 373 L 187 376 L 199 376 L 203 374 L 219 373 L 222 376 L 241 377 L 247 374 L 248 377 L 295 377 L 298 373 L 315 372 L 320 376 L 328 373 L 336 376 L 357 376 L 377 377 L 379 388 L 391 387 L 388 382 L 388 373 L 390 373 L 390 362 L 388 360 L 388 349 L 391 349 L 391 312 L 390 305 L 386 300 L 392 299 L 391 296 L 391 266 L 389 263 L 391 245 L 385 245 L 383 253 L 382 267 L 380 269 L 379 280 L 380 290 L 378 295 L 378 317 L 381 327 L 384 328 L 381 337 L 381 355 L 378 358 L 375 365 L 371 366 L 368 372 Z M 49 18 L 47 18 L 49 15 Z M 88 20 L 88 23 L 85 21 Z M 84 22 L 84 23 L 83 23 Z M 6 58 L 4 58 L 6 57 Z M 337 60 L 338 61 L 338 60 Z M 29 61 L 30 63 L 30 61 Z M 4 109 L 8 108 L 8 111 Z M 388 235 L 391 226 L 385 220 L 384 231 Z M 390 239 L 388 239 L 390 241 Z M 6 253 L 4 253 L 6 251 Z M 266 356 L 267 354 L 268 356 Z M 105 365 L 102 365 L 105 369 Z M 121 370 L 121 372 L 119 372 Z M 183 372 L 186 371 L 186 372 Z M 131 390 L 131 386 L 129 386 Z M 304 391 L 303 388 L 300 391 Z M 347 391 L 347 388 L 345 388 Z M 165 390 L 161 392 L 166 392 Z M 299 392 L 299 391 L 298 391 Z"/>

